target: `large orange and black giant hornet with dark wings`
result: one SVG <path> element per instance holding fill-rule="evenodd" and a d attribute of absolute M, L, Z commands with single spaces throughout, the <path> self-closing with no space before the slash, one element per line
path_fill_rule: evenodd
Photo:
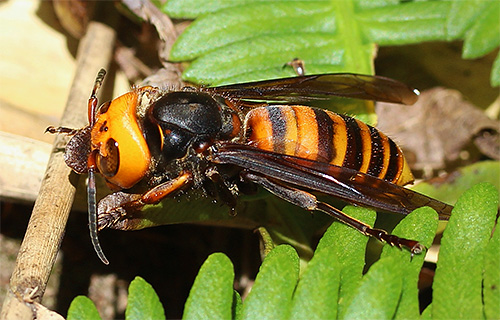
<path fill-rule="evenodd" d="M 385 134 L 352 117 L 300 104 L 332 96 L 413 104 L 417 94 L 398 81 L 344 73 L 181 91 L 145 86 L 98 106 L 104 76 L 100 70 L 88 102 L 88 126 L 47 131 L 73 135 L 65 161 L 75 172 L 88 173 L 91 239 L 106 264 L 97 229 L 181 190 L 202 189 L 235 208 L 244 186 L 258 185 L 411 254 L 424 247 L 372 228 L 311 192 L 405 215 L 429 206 L 442 220 L 453 209 L 402 187 L 413 176 Z M 97 208 L 95 173 L 112 190 L 126 191 L 111 195 L 114 207 Z"/>

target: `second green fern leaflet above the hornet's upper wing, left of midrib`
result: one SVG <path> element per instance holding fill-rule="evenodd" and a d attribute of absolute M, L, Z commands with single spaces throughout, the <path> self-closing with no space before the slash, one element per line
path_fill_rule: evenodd
<path fill-rule="evenodd" d="M 249 9 L 253 10 L 251 15 Z M 271 2 L 221 10 L 193 22 L 172 48 L 171 59 L 191 60 L 228 44 L 254 38 L 255 33 L 277 37 L 306 32 L 331 33 L 335 30 L 335 21 L 331 19 L 331 10 L 325 12 L 324 9 L 321 2 L 297 2 L 293 6 Z M 297 20 L 302 21 L 292 23 Z M 221 33 L 224 36 L 218 37 Z"/>

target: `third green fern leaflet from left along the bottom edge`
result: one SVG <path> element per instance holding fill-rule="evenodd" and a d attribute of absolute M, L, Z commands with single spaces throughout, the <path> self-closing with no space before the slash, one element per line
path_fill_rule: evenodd
<path fill-rule="evenodd" d="M 233 282 L 234 270 L 229 258 L 222 253 L 210 255 L 191 288 L 183 319 L 232 319 L 239 298 L 234 295 Z"/>

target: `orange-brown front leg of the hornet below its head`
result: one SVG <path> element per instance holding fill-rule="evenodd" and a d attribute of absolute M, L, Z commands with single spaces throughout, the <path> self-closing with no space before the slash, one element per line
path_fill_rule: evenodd
<path fill-rule="evenodd" d="M 98 230 L 105 228 L 127 230 L 132 227 L 127 220 L 139 213 L 145 205 L 157 204 L 168 196 L 192 184 L 191 172 L 184 172 L 177 178 L 153 187 L 144 194 L 118 191 L 108 195 L 97 208 Z"/>

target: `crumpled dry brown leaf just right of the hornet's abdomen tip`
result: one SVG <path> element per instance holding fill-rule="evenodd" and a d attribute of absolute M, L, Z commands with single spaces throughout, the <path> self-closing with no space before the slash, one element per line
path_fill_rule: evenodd
<path fill-rule="evenodd" d="M 471 142 L 498 159 L 500 123 L 455 90 L 424 91 L 413 106 L 377 103 L 379 129 L 403 148 L 414 169 L 443 169 L 459 159 Z"/>

